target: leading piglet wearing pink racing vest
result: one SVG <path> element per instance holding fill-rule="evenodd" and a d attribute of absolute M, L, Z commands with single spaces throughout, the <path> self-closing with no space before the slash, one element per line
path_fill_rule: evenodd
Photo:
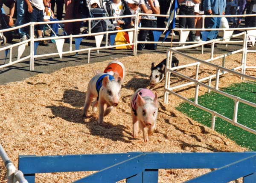
<path fill-rule="evenodd" d="M 138 89 L 132 96 L 130 102 L 133 136 L 138 137 L 139 130 L 143 131 L 144 142 L 148 142 L 156 128 L 158 101 L 157 93 L 150 89 Z"/>

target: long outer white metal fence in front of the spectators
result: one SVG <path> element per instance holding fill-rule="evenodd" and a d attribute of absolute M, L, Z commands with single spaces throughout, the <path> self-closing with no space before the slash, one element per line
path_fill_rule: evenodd
<path fill-rule="evenodd" d="M 54 55 L 58 55 L 58 52 L 56 53 L 48 53 L 48 54 L 41 54 L 41 55 L 35 55 L 34 54 L 34 43 L 35 41 L 41 41 L 41 40 L 51 40 L 51 39 L 70 39 L 70 46 L 69 46 L 69 51 L 64 51 L 62 52 L 62 54 L 72 54 L 72 53 L 76 53 L 76 52 L 86 52 L 88 53 L 88 63 L 90 62 L 90 52 L 93 50 L 100 50 L 100 49 L 109 49 L 109 48 L 115 48 L 118 46 L 134 46 L 133 49 L 133 54 L 136 55 L 137 54 L 137 44 L 138 43 L 157 43 L 157 44 L 170 44 L 171 42 L 161 42 L 161 41 L 138 41 L 137 40 L 137 35 L 138 35 L 138 31 L 143 30 L 143 29 L 147 29 L 147 30 L 160 30 L 163 31 L 164 28 L 145 28 L 145 27 L 138 27 L 138 21 L 139 21 L 139 16 L 141 15 L 147 15 L 147 14 L 142 14 L 142 13 L 138 13 L 135 15 L 126 15 L 126 16 L 120 16 L 120 17 L 135 17 L 135 22 L 136 22 L 136 26 L 133 29 L 125 29 L 125 30 L 115 30 L 115 31 L 105 31 L 105 32 L 97 32 L 97 33 L 92 33 L 91 32 L 91 24 L 93 20 L 104 20 L 104 19 L 111 19 L 111 18 L 115 18 L 115 17 L 98 17 L 98 18 L 84 18 L 84 19 L 76 19 L 76 20 L 62 20 L 62 21 L 55 21 L 55 22 L 31 22 L 31 23 L 26 23 L 22 26 L 17 26 L 14 28 L 10 28 L 10 29 L 4 29 L 4 30 L 0 30 L 0 32 L 4 32 L 4 31 L 13 31 L 15 29 L 19 29 L 19 28 L 23 28 L 26 26 L 29 26 L 29 35 L 30 38 L 26 41 L 20 42 L 20 43 L 15 43 L 13 45 L 9 45 L 9 46 L 5 46 L 0 48 L 0 51 L 4 51 L 9 49 L 9 63 L 0 65 L 0 69 L 4 68 L 4 67 L 8 67 L 11 66 L 15 63 L 19 63 L 22 62 L 24 60 L 30 59 L 30 70 L 34 70 L 34 60 L 35 58 L 38 57 L 46 57 L 46 56 L 54 56 Z M 150 14 L 152 15 L 152 14 Z M 155 14 L 155 16 L 157 17 L 168 17 L 168 15 L 160 15 L 160 14 Z M 175 31 L 189 31 L 189 30 L 201 30 L 201 31 L 209 31 L 209 30 L 219 30 L 219 31 L 232 31 L 232 30 L 240 30 L 240 31 L 245 31 L 245 30 L 256 30 L 256 27 L 251 27 L 251 28 L 233 28 L 233 29 L 205 29 L 204 28 L 204 21 L 206 17 L 247 17 L 247 16 L 256 16 L 256 14 L 247 14 L 247 15 L 194 15 L 194 16 L 184 16 L 184 15 L 177 15 L 177 18 L 179 17 L 202 17 L 203 20 L 203 26 L 202 29 L 180 29 L 180 28 L 175 28 Z M 34 38 L 34 27 L 35 25 L 38 24 L 51 24 L 51 23 L 70 23 L 70 22 L 77 22 L 77 21 L 88 21 L 88 34 L 79 34 L 79 35 L 67 35 L 67 36 L 61 36 L 61 37 L 44 37 L 44 38 Z M 96 35 L 102 35 L 105 34 L 106 37 L 108 37 L 109 34 L 111 33 L 116 33 L 116 32 L 121 32 L 121 31 L 133 31 L 134 32 L 134 36 L 132 39 L 131 43 L 128 44 L 122 44 L 122 45 L 113 45 L 113 46 L 108 46 L 108 39 L 106 39 L 106 43 L 105 46 L 100 46 L 98 48 L 96 47 L 90 47 L 90 48 L 85 48 L 85 49 L 79 49 L 79 50 L 73 50 L 72 49 L 72 39 L 73 38 L 77 38 L 77 37 L 87 37 L 87 36 L 96 36 Z M 228 44 L 228 43 L 241 43 L 243 42 L 242 40 L 229 40 L 229 39 L 223 39 L 223 40 L 215 40 L 214 43 L 224 43 L 224 44 Z M 30 43 L 30 52 L 29 55 L 27 55 L 26 57 L 21 57 L 21 58 L 17 58 L 16 60 L 14 60 L 12 58 L 12 51 L 14 47 L 20 46 L 22 44 L 25 43 Z M 173 42 L 172 44 L 195 44 L 195 43 L 199 43 L 199 42 Z M 202 46 L 202 53 L 204 51 L 204 44 L 200 44 L 200 46 Z"/>

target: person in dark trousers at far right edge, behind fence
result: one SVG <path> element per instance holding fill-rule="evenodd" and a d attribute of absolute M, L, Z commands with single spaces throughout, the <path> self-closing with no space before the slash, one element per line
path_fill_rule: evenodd
<path fill-rule="evenodd" d="M 246 14 L 256 14 L 256 0 L 247 0 Z M 256 17 L 245 17 L 245 27 L 256 27 Z M 252 42 L 248 42 L 248 47 L 253 47 Z"/>

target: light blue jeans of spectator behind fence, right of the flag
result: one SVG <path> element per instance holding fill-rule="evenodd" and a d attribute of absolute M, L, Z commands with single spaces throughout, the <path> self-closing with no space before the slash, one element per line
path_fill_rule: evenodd
<path fill-rule="evenodd" d="M 220 28 L 221 18 L 220 17 L 206 18 L 205 24 L 207 29 L 218 29 Z M 218 36 L 218 31 L 210 31 L 206 40 L 209 41 L 209 40 L 216 39 L 217 36 Z"/>

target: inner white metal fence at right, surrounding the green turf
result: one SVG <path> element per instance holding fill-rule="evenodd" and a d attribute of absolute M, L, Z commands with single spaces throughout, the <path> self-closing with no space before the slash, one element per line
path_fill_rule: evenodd
<path fill-rule="evenodd" d="M 241 36 L 241 35 L 243 35 L 243 37 L 244 37 L 244 39 L 243 39 L 243 48 L 242 49 L 239 49 L 239 50 L 236 50 L 236 51 L 233 51 L 233 52 L 229 52 L 229 53 L 226 53 L 226 54 L 222 54 L 222 55 L 220 55 L 218 57 L 213 57 L 214 43 L 216 41 L 221 41 L 221 40 L 229 39 L 229 38 L 232 38 L 232 37 L 238 37 L 238 36 Z M 166 59 L 167 61 L 166 61 L 166 79 L 165 79 L 165 86 L 164 86 L 164 103 L 168 104 L 168 96 L 169 96 L 169 94 L 174 94 L 175 96 L 177 96 L 180 99 L 188 102 L 189 104 L 191 104 L 193 106 L 196 106 L 199 109 L 202 109 L 202 110 L 204 110 L 206 112 L 211 113 L 212 114 L 212 129 L 215 128 L 215 118 L 216 117 L 220 117 L 221 119 L 223 119 L 223 120 L 225 120 L 225 121 L 227 121 L 227 122 L 229 122 L 229 123 L 231 123 L 231 124 L 233 124 L 235 126 L 238 126 L 241 129 L 244 129 L 244 130 L 246 130 L 248 132 L 256 134 L 256 130 L 250 129 L 247 126 L 244 126 L 244 125 L 242 125 L 242 124 L 237 122 L 237 112 L 238 112 L 239 102 L 247 104 L 249 106 L 253 106 L 255 108 L 256 108 L 256 103 L 252 103 L 250 101 L 241 99 L 241 98 L 239 98 L 237 96 L 228 94 L 228 93 L 223 92 L 223 91 L 218 89 L 219 77 L 220 77 L 221 74 L 231 73 L 231 74 L 235 74 L 235 75 L 240 76 L 241 79 L 248 79 L 248 80 L 256 81 L 256 77 L 248 76 L 248 75 L 245 74 L 246 68 L 256 68 L 255 66 L 250 66 L 250 67 L 246 66 L 246 54 L 247 54 L 247 52 L 249 52 L 247 50 L 247 40 L 248 40 L 248 35 L 246 34 L 246 32 L 242 32 L 240 34 L 236 34 L 236 35 L 233 35 L 233 36 L 230 36 L 230 37 L 224 37 L 224 38 L 217 39 L 217 40 L 210 40 L 210 41 L 206 41 L 204 43 L 198 43 L 198 44 L 190 45 L 190 46 L 170 48 L 167 51 L 167 59 Z M 200 46 L 200 45 L 209 44 L 209 43 L 212 44 L 212 52 L 211 52 L 210 58 L 207 59 L 207 60 L 199 60 L 197 58 L 191 57 L 189 55 L 183 54 L 182 52 L 178 51 L 178 50 L 182 50 L 182 49 L 186 49 L 186 48 L 192 48 L 193 46 Z M 225 68 L 224 67 L 225 66 L 225 58 L 227 56 L 229 56 L 229 55 L 236 54 L 236 53 L 239 53 L 239 52 L 242 52 L 241 66 L 238 66 L 238 67 L 233 68 L 233 69 Z M 192 60 L 194 60 L 196 62 L 172 68 L 171 66 L 172 66 L 172 54 L 173 53 L 182 55 L 183 57 L 192 59 Z M 217 60 L 217 59 L 220 59 L 220 58 L 223 58 L 222 66 L 218 66 L 218 65 L 215 65 L 213 63 L 210 63 L 211 61 Z M 211 66 L 211 67 L 215 68 L 216 69 L 216 74 L 213 74 L 213 75 L 208 76 L 208 77 L 204 77 L 202 79 L 198 79 L 198 72 L 199 72 L 199 67 L 200 67 L 201 64 L 205 64 L 205 65 L 208 65 L 208 66 Z M 191 66 L 196 66 L 196 68 L 195 68 L 196 69 L 195 79 L 193 79 L 191 77 L 188 77 L 188 76 L 185 76 L 184 74 L 180 74 L 177 71 L 177 69 L 188 68 L 188 67 L 191 67 Z M 238 69 L 241 69 L 241 73 L 236 71 Z M 180 78 L 183 78 L 184 80 L 188 80 L 189 83 L 185 83 L 185 84 L 181 84 L 181 85 L 178 85 L 178 86 L 171 87 L 170 86 L 170 75 L 171 75 L 171 73 L 175 74 L 176 76 L 178 76 Z M 215 86 L 214 87 L 211 86 L 211 80 L 212 80 L 213 77 L 215 77 Z M 203 81 L 206 81 L 206 80 L 209 80 L 208 85 L 203 83 Z M 195 101 L 194 102 L 189 100 L 189 99 L 187 99 L 186 97 L 183 97 L 180 94 L 177 94 L 176 92 L 174 92 L 175 89 L 179 89 L 179 88 L 183 88 L 185 86 L 191 86 L 191 85 L 195 86 Z M 221 94 L 221 95 L 224 95 L 225 97 L 233 99 L 234 100 L 233 119 L 225 117 L 224 115 L 219 114 L 216 111 L 213 111 L 211 109 L 208 109 L 207 107 L 199 105 L 198 104 L 198 91 L 199 91 L 199 87 L 200 86 L 208 89 L 208 92 L 210 92 L 212 90 L 212 91 L 214 91 L 214 92 L 216 92 L 218 94 Z"/>

